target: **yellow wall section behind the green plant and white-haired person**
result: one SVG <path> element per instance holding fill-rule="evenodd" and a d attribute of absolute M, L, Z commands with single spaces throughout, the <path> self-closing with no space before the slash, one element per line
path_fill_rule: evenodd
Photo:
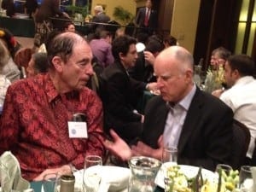
<path fill-rule="evenodd" d="M 113 18 L 113 9 L 117 6 L 121 6 L 124 9 L 126 9 L 127 11 L 131 12 L 132 15 L 136 15 L 136 7 L 137 7 L 137 3 L 134 0 L 125 0 L 125 1 L 116 1 L 116 0 L 92 0 L 91 3 L 91 15 L 94 15 L 94 7 L 97 4 L 103 4 L 106 5 L 106 15 L 108 15 L 111 20 L 115 20 Z M 118 21 L 118 20 L 116 20 Z"/>

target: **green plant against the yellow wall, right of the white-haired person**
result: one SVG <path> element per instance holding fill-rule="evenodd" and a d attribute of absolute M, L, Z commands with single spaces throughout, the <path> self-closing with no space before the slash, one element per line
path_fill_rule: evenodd
<path fill-rule="evenodd" d="M 130 23 L 134 19 L 134 16 L 121 6 L 115 7 L 113 9 L 113 17 L 116 20 L 121 21 L 125 25 Z"/>

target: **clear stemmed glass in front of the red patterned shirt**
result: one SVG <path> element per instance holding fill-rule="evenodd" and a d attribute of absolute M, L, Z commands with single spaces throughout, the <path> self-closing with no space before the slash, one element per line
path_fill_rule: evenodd
<path fill-rule="evenodd" d="M 91 166 L 102 166 L 102 157 L 98 155 L 87 155 L 84 159 L 83 187 L 86 192 L 96 192 L 101 182 L 101 177 L 96 173 L 90 174 L 88 168 Z"/>

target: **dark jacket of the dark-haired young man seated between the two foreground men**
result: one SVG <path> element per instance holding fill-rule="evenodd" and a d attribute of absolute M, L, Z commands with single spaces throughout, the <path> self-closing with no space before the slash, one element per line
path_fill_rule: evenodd
<path fill-rule="evenodd" d="M 114 128 L 140 122 L 141 115 L 133 110 L 137 105 L 137 93 L 143 92 L 146 84 L 131 79 L 119 62 L 114 62 L 103 70 L 100 82 L 105 125 Z"/>

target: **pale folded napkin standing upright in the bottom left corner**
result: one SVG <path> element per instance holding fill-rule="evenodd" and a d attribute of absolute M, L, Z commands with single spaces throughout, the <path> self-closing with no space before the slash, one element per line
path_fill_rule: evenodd
<path fill-rule="evenodd" d="M 3 192 L 23 191 L 30 188 L 30 183 L 21 177 L 19 161 L 9 151 L 0 156 L 0 174 Z"/>

